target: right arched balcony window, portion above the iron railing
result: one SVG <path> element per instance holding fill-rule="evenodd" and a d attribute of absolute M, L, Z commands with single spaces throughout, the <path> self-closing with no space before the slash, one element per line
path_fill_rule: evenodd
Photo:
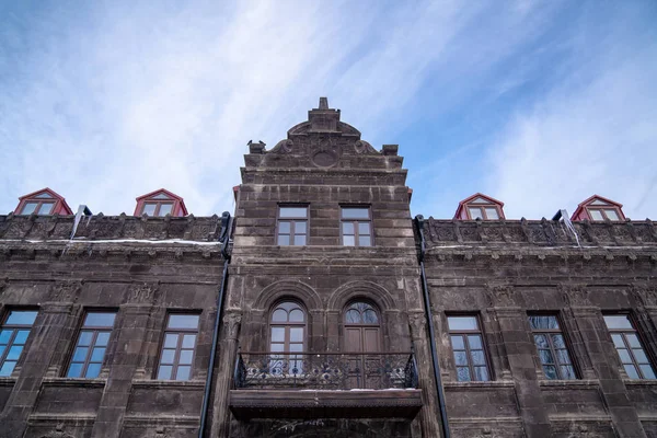
<path fill-rule="evenodd" d="M 345 309 L 345 349 L 347 351 L 380 351 L 380 319 L 373 306 L 351 302 Z"/>

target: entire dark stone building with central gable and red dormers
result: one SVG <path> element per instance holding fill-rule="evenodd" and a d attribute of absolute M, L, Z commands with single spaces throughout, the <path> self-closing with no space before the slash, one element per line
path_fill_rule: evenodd
<path fill-rule="evenodd" d="M 234 217 L 50 189 L 0 216 L 0 437 L 657 436 L 657 229 L 600 196 L 412 218 L 325 99 Z M 211 370 L 209 372 L 208 370 Z"/>

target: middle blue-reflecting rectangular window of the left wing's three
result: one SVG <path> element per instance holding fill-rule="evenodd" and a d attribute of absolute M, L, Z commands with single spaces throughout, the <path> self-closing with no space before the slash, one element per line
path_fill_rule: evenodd
<path fill-rule="evenodd" d="M 101 373 L 116 312 L 89 312 L 80 328 L 66 377 L 95 379 Z"/>

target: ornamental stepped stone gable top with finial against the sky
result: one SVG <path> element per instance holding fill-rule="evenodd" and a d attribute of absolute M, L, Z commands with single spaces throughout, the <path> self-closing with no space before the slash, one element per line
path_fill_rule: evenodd
<path fill-rule="evenodd" d="M 250 152 L 264 155 L 257 160 L 257 165 L 316 168 L 341 166 L 343 158 L 389 154 L 361 140 L 358 129 L 341 122 L 339 117 L 341 111 L 330 108 L 327 99 L 320 97 L 319 107 L 308 112 L 307 122 L 288 130 L 287 139 L 280 140 L 270 150 L 265 150 L 263 142 L 250 141 Z"/>

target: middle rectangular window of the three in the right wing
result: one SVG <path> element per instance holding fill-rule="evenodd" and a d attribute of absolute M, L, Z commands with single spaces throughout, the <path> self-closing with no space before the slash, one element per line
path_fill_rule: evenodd
<path fill-rule="evenodd" d="M 533 332 L 545 378 L 549 380 L 577 379 L 556 315 L 529 316 L 529 325 Z"/>

